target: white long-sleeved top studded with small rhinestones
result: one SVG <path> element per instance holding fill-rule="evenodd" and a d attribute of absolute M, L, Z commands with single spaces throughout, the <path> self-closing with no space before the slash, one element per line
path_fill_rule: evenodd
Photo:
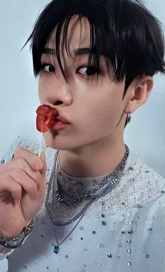
<path fill-rule="evenodd" d="M 17 138 L 4 160 L 17 145 L 38 152 L 36 138 Z M 45 150 L 48 182 L 55 152 Z M 63 171 L 62 176 L 66 186 L 74 187 Z M 89 184 L 87 179 L 82 183 Z M 165 272 L 164 191 L 165 180 L 129 153 L 120 183 L 87 209 L 69 237 L 78 220 L 55 228 L 59 241 L 66 238 L 58 254 L 52 251 L 57 243 L 43 205 L 34 231 L 8 257 L 8 272 Z M 66 221 L 75 212 L 55 202 L 57 220 Z"/>

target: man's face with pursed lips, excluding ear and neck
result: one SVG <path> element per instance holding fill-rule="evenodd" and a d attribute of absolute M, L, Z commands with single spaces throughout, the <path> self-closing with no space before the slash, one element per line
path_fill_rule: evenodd
<path fill-rule="evenodd" d="M 110 79 L 103 56 L 98 79 L 94 65 L 91 63 L 88 67 L 90 31 L 87 19 L 82 18 L 80 25 L 74 17 L 69 24 L 67 42 L 71 56 L 61 43 L 66 79 L 55 57 L 55 49 L 48 50 L 54 48 L 54 38 L 55 33 L 41 56 L 39 97 L 42 104 L 56 108 L 59 119 L 65 119 L 67 124 L 59 122 L 59 126 L 47 131 L 45 141 L 60 150 L 114 141 L 122 134 L 127 116 L 123 113 L 128 101 L 128 95 L 122 100 L 124 82 L 119 85 Z M 76 56 L 78 48 L 81 50 Z"/>

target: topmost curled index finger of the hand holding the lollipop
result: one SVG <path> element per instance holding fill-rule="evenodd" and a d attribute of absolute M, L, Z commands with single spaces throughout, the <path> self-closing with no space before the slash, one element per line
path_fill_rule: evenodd
<path fill-rule="evenodd" d="M 14 160 L 16 160 L 18 157 L 22 157 L 24 160 L 26 160 L 27 163 L 34 170 L 41 171 L 43 169 L 43 161 L 41 160 L 41 158 L 38 157 L 36 154 L 32 153 L 31 151 L 27 150 L 27 148 L 19 146 L 15 150 Z"/>

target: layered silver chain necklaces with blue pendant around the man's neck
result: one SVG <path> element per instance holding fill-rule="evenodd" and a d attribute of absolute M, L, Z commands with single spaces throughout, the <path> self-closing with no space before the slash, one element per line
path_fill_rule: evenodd
<path fill-rule="evenodd" d="M 73 198 L 73 195 L 71 195 L 71 193 L 64 191 L 61 184 L 60 184 L 61 175 L 59 176 L 58 171 L 57 171 L 57 166 L 58 166 L 57 158 L 59 155 L 59 151 L 56 153 L 55 161 L 54 161 L 55 163 L 52 168 L 50 182 L 48 184 L 48 190 L 47 190 L 46 197 L 45 197 L 45 209 L 48 213 L 50 221 L 52 221 L 53 231 L 55 234 L 55 240 L 57 243 L 57 245 L 54 246 L 53 252 L 55 252 L 56 254 L 59 252 L 59 245 L 61 245 L 62 242 L 64 242 L 64 240 L 66 240 L 66 238 L 68 238 L 69 235 L 74 231 L 76 226 L 78 226 L 78 224 L 80 223 L 80 220 L 84 216 L 89 205 L 91 205 L 92 202 L 98 200 L 100 197 L 103 197 L 104 195 L 109 193 L 110 190 L 113 190 L 115 188 L 115 186 L 117 186 L 117 184 L 120 182 L 120 179 L 123 176 L 123 170 L 124 170 L 125 164 L 127 162 L 127 158 L 129 156 L 129 148 L 127 147 L 127 145 L 125 145 L 125 148 L 126 148 L 126 153 L 124 155 L 124 158 L 122 159 L 120 164 L 118 164 L 115 171 L 113 171 L 112 173 L 105 176 L 103 178 L 103 181 L 101 181 L 101 183 L 99 183 L 99 186 L 96 186 L 93 190 L 90 190 L 90 191 L 87 190 L 85 193 L 83 193 L 82 195 L 80 195 L 76 198 Z M 55 188 L 55 183 L 56 183 L 57 188 Z M 50 196 L 51 189 L 52 189 L 52 196 Z M 85 201 L 89 200 L 89 201 L 84 205 L 84 207 L 82 207 L 82 209 L 78 212 L 78 214 L 76 214 L 76 216 L 73 216 L 73 218 L 69 219 L 66 222 L 59 223 L 59 222 L 53 220 L 53 217 L 54 217 L 53 214 L 55 213 L 54 212 L 55 200 L 60 202 L 61 205 L 68 205 L 68 206 L 78 205 L 83 200 L 85 200 Z M 52 202 L 52 205 L 50 205 L 50 201 Z M 55 226 L 69 225 L 69 224 L 73 223 L 73 221 L 76 221 L 79 217 L 80 217 L 80 219 L 78 220 L 76 225 L 73 227 L 73 229 L 69 232 L 69 234 L 66 236 L 66 238 L 64 238 L 61 242 L 59 242 L 57 240 Z"/>

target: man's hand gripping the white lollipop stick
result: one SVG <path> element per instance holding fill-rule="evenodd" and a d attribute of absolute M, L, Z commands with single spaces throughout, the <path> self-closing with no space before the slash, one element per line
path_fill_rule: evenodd
<path fill-rule="evenodd" d="M 0 231 L 11 238 L 21 233 L 45 200 L 45 154 L 15 150 L 14 160 L 0 165 Z"/>

